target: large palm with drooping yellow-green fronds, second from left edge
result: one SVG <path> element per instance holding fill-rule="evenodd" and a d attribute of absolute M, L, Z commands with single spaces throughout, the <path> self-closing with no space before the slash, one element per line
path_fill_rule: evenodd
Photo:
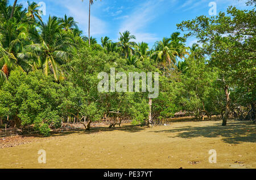
<path fill-rule="evenodd" d="M 55 80 L 60 78 L 62 72 L 60 65 L 71 57 L 74 44 L 71 37 L 61 33 L 62 26 L 57 17 L 49 16 L 48 22 L 39 24 L 40 31 L 31 28 L 30 37 L 35 43 L 26 45 L 25 52 L 19 53 L 22 59 L 34 60 L 33 68 L 42 68 L 43 72 L 53 73 Z"/>

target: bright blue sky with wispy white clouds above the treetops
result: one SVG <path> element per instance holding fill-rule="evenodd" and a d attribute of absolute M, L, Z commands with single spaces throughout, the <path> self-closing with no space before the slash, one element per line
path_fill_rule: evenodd
<path fill-rule="evenodd" d="M 89 1 L 84 0 L 34 0 L 46 5 L 49 14 L 63 17 L 73 16 L 84 35 L 88 35 Z M 13 5 L 14 0 L 10 0 Z M 32 1 L 31 1 L 32 2 Z M 102 36 L 118 41 L 119 32 L 129 30 L 137 37 L 135 41 L 146 41 L 150 47 L 163 37 L 176 32 L 176 24 L 199 15 L 209 15 L 209 3 L 216 2 L 217 13 L 230 5 L 246 9 L 246 0 L 102 0 L 94 2 L 91 9 L 91 35 L 100 42 Z M 18 0 L 24 7 L 27 1 Z M 196 43 L 191 37 L 187 45 Z"/>

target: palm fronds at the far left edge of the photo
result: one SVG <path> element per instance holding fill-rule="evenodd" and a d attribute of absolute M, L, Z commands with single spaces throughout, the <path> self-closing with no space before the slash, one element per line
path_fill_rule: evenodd
<path fill-rule="evenodd" d="M 18 53 L 22 51 L 24 45 L 30 43 L 27 34 L 26 10 L 22 10 L 21 5 L 15 5 L 15 9 L 15 13 L 10 18 L 11 6 L 8 6 L 8 1 L 0 2 L 1 82 L 8 78 L 13 67 L 19 66 L 23 70 L 29 68 L 26 61 L 18 58 Z"/>

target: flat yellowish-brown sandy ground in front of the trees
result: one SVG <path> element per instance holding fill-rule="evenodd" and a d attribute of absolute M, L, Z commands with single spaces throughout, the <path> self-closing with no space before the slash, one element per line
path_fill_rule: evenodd
<path fill-rule="evenodd" d="M 0 149 L 0 168 L 256 168 L 255 124 L 229 120 L 172 120 L 142 128 L 122 124 L 91 132 L 36 137 L 27 144 Z M 1 143 L 1 142 L 0 142 Z M 38 150 L 46 150 L 39 164 Z M 217 163 L 209 163 L 209 150 Z"/>

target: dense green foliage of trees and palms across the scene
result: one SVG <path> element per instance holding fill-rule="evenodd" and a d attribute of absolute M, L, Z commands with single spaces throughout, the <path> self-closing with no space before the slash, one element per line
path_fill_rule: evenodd
<path fill-rule="evenodd" d="M 249 107 L 255 111 L 255 9 L 229 7 L 226 14 L 182 22 L 177 27 L 188 34 L 174 32 L 149 51 L 129 31 L 120 33 L 118 42 L 102 37 L 100 45 L 83 36 L 72 17 L 49 16 L 43 22 L 35 2 L 28 9 L 17 5 L 12 18 L 8 2 L 0 6 L 0 117 L 5 123 L 14 120 L 44 136 L 74 117 L 95 122 L 118 115 L 134 125 L 146 124 L 148 93 L 97 90 L 98 73 L 110 74 L 110 68 L 126 76 L 159 72 L 153 120 L 172 118 L 181 110 L 196 118 L 222 115 L 229 105 L 227 93 L 234 114 Z M 201 45 L 185 47 L 190 35 Z"/>

